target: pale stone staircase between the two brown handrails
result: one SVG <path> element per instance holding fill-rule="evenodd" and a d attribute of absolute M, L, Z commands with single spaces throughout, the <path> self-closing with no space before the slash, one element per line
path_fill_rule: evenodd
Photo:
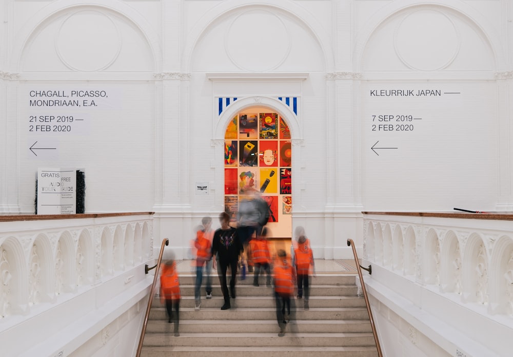
<path fill-rule="evenodd" d="M 194 310 L 193 273 L 180 274 L 180 336 L 173 336 L 165 307 L 155 297 L 150 311 L 142 357 L 168 356 L 338 356 L 377 357 L 378 352 L 363 297 L 357 296 L 352 274 L 317 274 L 311 278 L 309 310 L 293 298 L 285 336 L 279 337 L 274 290 L 254 287 L 253 276 L 237 281 L 231 309 L 221 310 L 223 297 L 213 271 L 213 298 Z"/>

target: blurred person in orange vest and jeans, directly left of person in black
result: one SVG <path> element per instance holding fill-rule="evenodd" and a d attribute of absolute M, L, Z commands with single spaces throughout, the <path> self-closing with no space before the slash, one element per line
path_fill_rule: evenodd
<path fill-rule="evenodd" d="M 201 307 L 201 284 L 203 281 L 203 267 L 205 267 L 206 277 L 206 291 L 207 298 L 212 297 L 212 285 L 210 279 L 210 268 L 212 267 L 211 248 L 212 241 L 207 238 L 207 228 L 210 228 L 212 220 L 205 217 L 202 220 L 203 229 L 196 232 L 196 239 L 194 240 L 194 248 L 196 249 L 196 281 L 194 285 L 194 310 L 200 310 Z"/>

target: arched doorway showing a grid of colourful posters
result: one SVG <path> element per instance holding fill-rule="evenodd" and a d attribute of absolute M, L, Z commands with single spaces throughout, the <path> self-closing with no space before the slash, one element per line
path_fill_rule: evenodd
<path fill-rule="evenodd" d="M 270 238 L 292 232 L 292 148 L 285 119 L 267 107 L 249 107 L 225 131 L 225 211 L 236 221 L 241 199 L 260 193 L 269 206 Z"/>

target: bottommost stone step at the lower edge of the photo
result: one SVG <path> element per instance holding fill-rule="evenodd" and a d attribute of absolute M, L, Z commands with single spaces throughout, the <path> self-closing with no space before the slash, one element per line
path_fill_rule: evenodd
<path fill-rule="evenodd" d="M 180 339 L 181 337 L 174 337 Z M 283 337 L 281 337 L 283 339 Z M 212 347 L 201 346 L 162 346 L 144 347 L 141 357 L 378 357 L 375 346 L 372 347 L 296 347 L 259 346 L 259 347 Z"/>

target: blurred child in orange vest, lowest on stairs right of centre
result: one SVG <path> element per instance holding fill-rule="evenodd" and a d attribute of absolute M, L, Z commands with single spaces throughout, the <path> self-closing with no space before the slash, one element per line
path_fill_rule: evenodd
<path fill-rule="evenodd" d="M 290 297 L 294 293 L 294 268 L 287 259 L 287 253 L 280 249 L 278 258 L 273 267 L 274 273 L 274 297 L 276 300 L 276 318 L 280 333 L 285 335 L 287 320 L 290 321 Z"/>

